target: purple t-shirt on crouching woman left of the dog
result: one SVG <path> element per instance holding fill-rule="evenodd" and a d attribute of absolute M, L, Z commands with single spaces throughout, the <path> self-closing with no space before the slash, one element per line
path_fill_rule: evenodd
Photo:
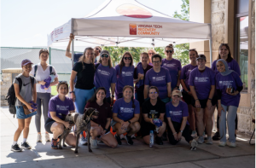
<path fill-rule="evenodd" d="M 59 95 L 53 96 L 49 100 L 49 111 L 48 111 L 48 117 L 50 119 L 50 113 L 49 112 L 55 112 L 56 116 L 60 119 L 65 119 L 65 116 L 68 114 L 69 111 L 73 111 L 73 101 L 71 98 L 67 97 L 65 98 L 65 101 L 61 101 L 59 98 Z"/>

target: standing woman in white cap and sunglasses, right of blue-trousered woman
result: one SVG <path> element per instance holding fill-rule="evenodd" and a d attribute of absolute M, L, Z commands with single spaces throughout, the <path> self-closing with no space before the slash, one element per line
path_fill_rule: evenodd
<path fill-rule="evenodd" d="M 116 72 L 112 67 L 111 57 L 107 50 L 102 50 L 99 63 L 96 64 L 94 84 L 96 89 L 104 87 L 107 90 L 106 99 L 108 104 L 113 105 L 114 89 L 116 83 Z M 111 88 L 111 96 L 109 89 Z M 111 97 L 111 98 L 110 98 Z"/>

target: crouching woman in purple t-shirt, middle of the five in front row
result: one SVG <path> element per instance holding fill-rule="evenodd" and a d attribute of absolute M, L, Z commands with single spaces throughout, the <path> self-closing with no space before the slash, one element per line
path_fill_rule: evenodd
<path fill-rule="evenodd" d="M 128 145 L 133 145 L 131 136 L 140 130 L 138 122 L 140 116 L 140 104 L 133 98 L 133 87 L 126 85 L 123 89 L 123 97 L 113 104 L 113 120 L 111 126 L 116 131 L 115 138 L 119 145 L 122 144 L 120 135 L 127 132 L 125 140 Z"/>

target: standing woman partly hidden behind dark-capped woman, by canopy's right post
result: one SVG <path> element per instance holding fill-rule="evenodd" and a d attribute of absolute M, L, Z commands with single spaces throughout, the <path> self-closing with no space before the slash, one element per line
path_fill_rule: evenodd
<path fill-rule="evenodd" d="M 192 93 L 189 88 L 189 74 L 190 72 L 197 67 L 196 58 L 198 57 L 196 49 L 189 49 L 189 60 L 190 63 L 182 68 L 180 82 L 183 86 L 182 94 L 183 100 L 188 104 L 189 107 L 189 126 L 190 130 L 192 130 L 192 135 L 195 136 L 195 113 L 194 107 L 191 105 Z"/>

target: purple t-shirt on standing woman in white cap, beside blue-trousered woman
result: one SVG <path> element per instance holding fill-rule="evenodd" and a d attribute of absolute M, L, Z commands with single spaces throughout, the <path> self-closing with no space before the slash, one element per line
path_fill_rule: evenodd
<path fill-rule="evenodd" d="M 96 68 L 95 76 L 94 76 L 94 85 L 96 89 L 99 87 L 104 87 L 107 90 L 106 97 L 110 96 L 110 87 L 111 84 L 116 83 L 116 72 L 113 67 L 104 67 L 100 64 Z"/>

